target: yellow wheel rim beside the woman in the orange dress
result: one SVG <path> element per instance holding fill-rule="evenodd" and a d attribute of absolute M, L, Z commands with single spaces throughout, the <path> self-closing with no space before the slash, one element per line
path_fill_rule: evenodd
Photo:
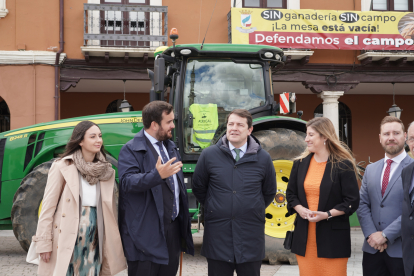
<path fill-rule="evenodd" d="M 293 230 L 296 215 L 285 217 L 287 213 L 286 188 L 293 162 L 289 160 L 273 161 L 276 171 L 276 196 L 266 208 L 265 234 L 274 238 L 285 238 L 286 231 Z"/>

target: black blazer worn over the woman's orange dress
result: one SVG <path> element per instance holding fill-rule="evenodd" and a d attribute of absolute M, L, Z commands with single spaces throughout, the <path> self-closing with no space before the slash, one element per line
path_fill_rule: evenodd
<path fill-rule="evenodd" d="M 308 208 L 304 181 L 311 158 L 313 158 L 313 154 L 293 163 L 286 190 L 289 214 L 296 213 L 293 207 L 299 204 Z M 333 169 L 332 166 L 332 162 L 328 160 L 320 186 L 318 210 L 311 211 L 326 212 L 336 209 L 344 211 L 345 215 L 333 217 L 330 220 L 321 220 L 316 223 L 318 257 L 348 258 L 351 256 L 349 216 L 358 209 L 358 182 L 351 162 L 343 161 L 342 163 L 336 163 Z M 308 220 L 297 215 L 292 253 L 305 256 L 308 225 Z"/>

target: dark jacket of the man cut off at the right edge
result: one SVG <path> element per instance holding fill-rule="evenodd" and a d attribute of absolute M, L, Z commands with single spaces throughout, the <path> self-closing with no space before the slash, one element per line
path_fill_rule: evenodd
<path fill-rule="evenodd" d="M 401 237 L 405 275 L 412 275 L 414 269 L 414 208 L 411 207 L 410 186 L 413 179 L 414 163 L 401 173 L 404 201 L 401 215 Z"/>

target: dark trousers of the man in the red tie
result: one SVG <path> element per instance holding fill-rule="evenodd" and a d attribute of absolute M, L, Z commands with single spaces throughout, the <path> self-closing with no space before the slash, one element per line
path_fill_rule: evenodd
<path fill-rule="evenodd" d="M 404 265 L 402 258 L 391 258 L 387 251 L 364 252 L 362 271 L 364 276 L 404 276 Z"/>

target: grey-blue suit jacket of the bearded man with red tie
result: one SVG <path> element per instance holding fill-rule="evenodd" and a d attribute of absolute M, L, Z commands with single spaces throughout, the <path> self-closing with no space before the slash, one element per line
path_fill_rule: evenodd
<path fill-rule="evenodd" d="M 360 203 L 357 210 L 359 223 L 365 236 L 362 250 L 375 254 L 377 250 L 371 247 L 367 238 L 377 231 L 383 231 L 388 238 L 387 253 L 393 258 L 402 258 L 401 243 L 401 213 L 403 202 L 403 186 L 401 171 L 413 162 L 410 156 L 406 156 L 393 173 L 381 196 L 381 174 L 384 167 L 384 159 L 367 166 L 359 191 Z"/>

